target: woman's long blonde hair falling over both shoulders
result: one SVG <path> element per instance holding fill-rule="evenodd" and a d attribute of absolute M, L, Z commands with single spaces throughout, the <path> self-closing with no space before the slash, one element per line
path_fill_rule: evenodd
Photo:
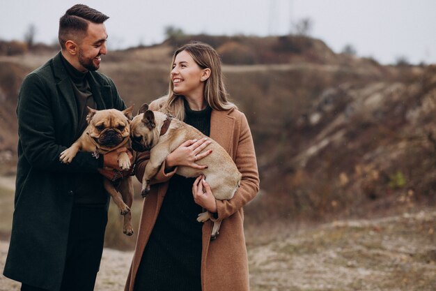
<path fill-rule="evenodd" d="M 213 110 L 229 110 L 236 107 L 235 104 L 228 100 L 226 87 L 224 87 L 223 76 L 221 72 L 221 59 L 213 47 L 206 43 L 192 42 L 178 48 L 173 55 L 171 61 L 171 70 L 176 56 L 180 52 L 187 52 L 194 59 L 200 68 L 209 68 L 210 76 L 205 81 L 204 98 L 206 103 L 212 107 Z M 169 113 L 177 119 L 185 119 L 185 105 L 183 103 L 183 96 L 174 93 L 173 82 L 169 82 L 168 96 L 165 96 L 157 102 L 160 104 L 160 111 Z"/>

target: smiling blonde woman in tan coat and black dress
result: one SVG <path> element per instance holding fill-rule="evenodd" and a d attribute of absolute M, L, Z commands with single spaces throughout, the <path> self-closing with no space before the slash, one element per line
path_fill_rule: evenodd
<path fill-rule="evenodd" d="M 215 200 L 203 177 L 175 174 L 178 165 L 206 167 L 201 158 L 210 154 L 208 141 L 187 140 L 169 154 L 143 203 L 125 290 L 249 290 L 242 207 L 256 196 L 259 179 L 247 119 L 227 100 L 219 56 L 210 45 L 189 43 L 176 50 L 170 76 L 168 96 L 150 109 L 172 114 L 216 140 L 235 161 L 242 181 L 231 200 Z M 139 181 L 147 161 L 148 152 L 137 159 Z M 196 221 L 203 208 L 222 221 L 213 241 L 212 221 Z"/>

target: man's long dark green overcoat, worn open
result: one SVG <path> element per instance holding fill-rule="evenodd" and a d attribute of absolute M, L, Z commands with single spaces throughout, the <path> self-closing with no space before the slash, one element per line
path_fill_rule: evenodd
<path fill-rule="evenodd" d="M 125 109 L 109 77 L 94 71 L 88 74 L 88 82 L 98 110 Z M 15 210 L 3 274 L 39 288 L 59 290 L 75 179 L 84 172 L 96 174 L 101 165 L 101 160 L 86 152 L 79 152 L 69 165 L 59 161 L 61 151 L 75 141 L 79 122 L 72 82 L 60 52 L 24 79 L 17 118 Z M 101 176 L 97 177 L 95 183 L 102 185 Z"/>

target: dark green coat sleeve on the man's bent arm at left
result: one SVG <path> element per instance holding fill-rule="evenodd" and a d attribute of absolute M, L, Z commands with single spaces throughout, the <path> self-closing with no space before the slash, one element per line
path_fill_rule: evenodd
<path fill-rule="evenodd" d="M 90 153 L 79 152 L 72 163 L 59 161 L 66 147 L 56 142 L 55 118 L 49 86 L 36 74 L 28 75 L 22 84 L 17 103 L 20 147 L 32 167 L 60 172 L 96 172 L 102 161 Z M 68 134 L 68 133 L 65 133 Z"/>

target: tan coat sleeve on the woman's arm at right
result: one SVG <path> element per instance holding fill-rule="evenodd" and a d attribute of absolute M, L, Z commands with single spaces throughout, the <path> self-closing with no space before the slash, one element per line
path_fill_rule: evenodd
<path fill-rule="evenodd" d="M 237 141 L 235 164 L 242 174 L 241 184 L 230 200 L 217 200 L 217 215 L 212 221 L 221 221 L 239 211 L 253 200 L 259 191 L 259 174 L 254 151 L 253 137 L 247 118 L 241 114 L 240 135 Z"/>

